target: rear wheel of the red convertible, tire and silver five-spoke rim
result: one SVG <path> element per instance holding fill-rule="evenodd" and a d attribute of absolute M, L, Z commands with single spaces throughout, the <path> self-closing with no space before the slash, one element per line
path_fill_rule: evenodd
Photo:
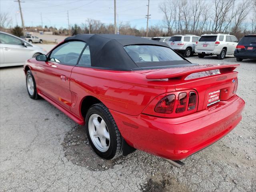
<path fill-rule="evenodd" d="M 122 155 L 122 137 L 116 122 L 104 104 L 91 106 L 86 114 L 86 133 L 93 150 L 105 159 Z"/>

